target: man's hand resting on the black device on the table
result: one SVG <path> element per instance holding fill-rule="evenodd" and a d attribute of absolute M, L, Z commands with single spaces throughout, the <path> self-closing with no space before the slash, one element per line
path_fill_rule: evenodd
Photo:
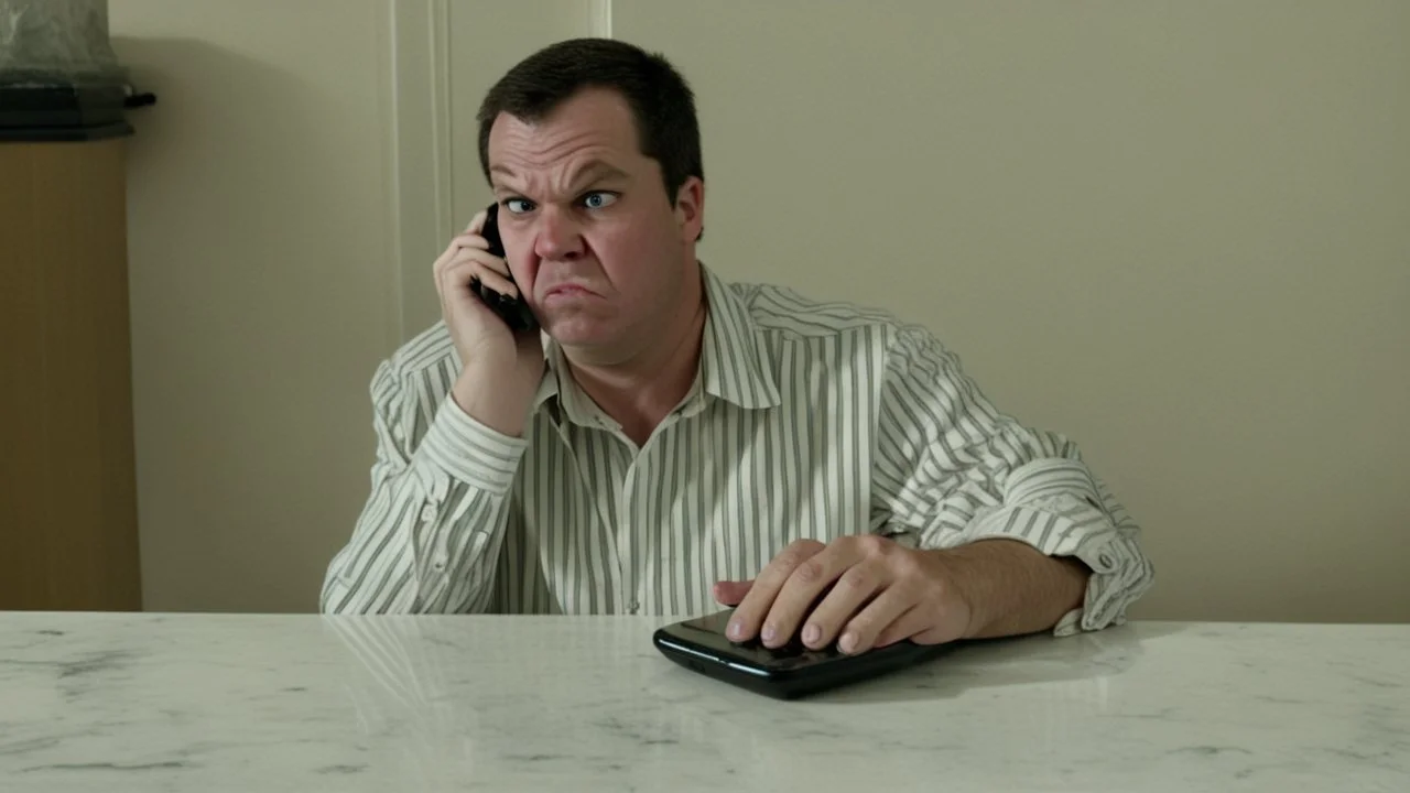
<path fill-rule="evenodd" d="M 931 645 L 966 636 L 973 608 L 956 580 L 943 552 L 863 535 L 826 546 L 794 542 L 753 581 L 718 583 L 715 597 L 737 604 L 732 641 L 759 636 L 777 648 L 801 631 L 812 649 L 836 641 L 842 652 L 859 653 L 902 639 Z"/>

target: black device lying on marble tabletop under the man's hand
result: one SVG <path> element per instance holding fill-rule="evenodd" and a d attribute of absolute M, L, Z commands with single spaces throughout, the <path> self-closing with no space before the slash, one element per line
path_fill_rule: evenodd
<path fill-rule="evenodd" d="M 918 645 L 905 639 L 847 655 L 836 646 L 809 649 L 795 635 L 787 645 L 770 649 L 757 641 L 730 641 L 725 628 L 733 612 L 730 608 L 657 628 L 651 643 L 687 669 L 780 700 L 873 680 L 955 646 L 955 642 Z"/>

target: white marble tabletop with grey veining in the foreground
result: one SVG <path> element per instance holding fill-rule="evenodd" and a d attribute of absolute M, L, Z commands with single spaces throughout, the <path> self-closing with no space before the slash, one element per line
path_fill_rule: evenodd
<path fill-rule="evenodd" d="M 1410 790 L 1410 626 L 1146 622 L 783 703 L 654 618 L 0 614 L 0 790 Z"/>

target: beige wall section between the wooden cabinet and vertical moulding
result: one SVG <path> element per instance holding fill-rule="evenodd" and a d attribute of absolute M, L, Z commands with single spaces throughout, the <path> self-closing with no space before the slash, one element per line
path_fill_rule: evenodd
<path fill-rule="evenodd" d="M 149 610 L 312 610 L 391 322 L 382 3 L 113 0 Z"/>

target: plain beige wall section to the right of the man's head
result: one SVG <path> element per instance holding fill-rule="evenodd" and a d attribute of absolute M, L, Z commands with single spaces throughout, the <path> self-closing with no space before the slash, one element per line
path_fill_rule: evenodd
<path fill-rule="evenodd" d="M 1135 617 L 1410 621 L 1410 3 L 615 0 L 702 258 L 891 306 L 1144 522 Z"/>

